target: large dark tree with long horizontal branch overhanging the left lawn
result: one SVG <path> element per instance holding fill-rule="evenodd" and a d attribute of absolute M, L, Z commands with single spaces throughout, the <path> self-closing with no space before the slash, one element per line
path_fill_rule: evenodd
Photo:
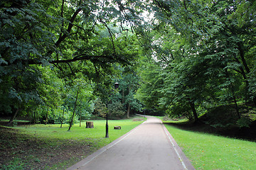
<path fill-rule="evenodd" d="M 36 91 L 43 76 L 38 65 L 55 69 L 64 81 L 82 72 L 97 82 L 95 77 L 103 70 L 112 72 L 113 63 L 130 64 L 137 57 L 129 46 L 129 30 L 122 26 L 140 21 L 137 2 L 18 0 L 0 5 L 4 113 L 18 113 L 32 106 L 29 102 L 34 106 L 44 102 L 45 92 Z M 119 33 L 110 23 L 119 26 Z"/>

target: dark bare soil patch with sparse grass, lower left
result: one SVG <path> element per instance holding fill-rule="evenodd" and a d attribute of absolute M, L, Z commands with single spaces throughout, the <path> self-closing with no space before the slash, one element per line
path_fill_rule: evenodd
<path fill-rule="evenodd" d="M 50 169 L 55 164 L 59 164 L 57 169 L 66 169 L 90 154 L 90 145 L 81 141 L 58 141 L 58 145 L 49 145 L 49 140 L 3 127 L 0 134 L 0 169 Z"/>

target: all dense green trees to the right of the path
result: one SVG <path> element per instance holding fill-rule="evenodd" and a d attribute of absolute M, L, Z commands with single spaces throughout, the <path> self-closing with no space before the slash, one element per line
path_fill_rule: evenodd
<path fill-rule="evenodd" d="M 234 106 L 238 119 L 241 105 L 256 106 L 254 1 L 155 0 L 152 9 L 146 106 L 196 121 L 216 106 Z"/>

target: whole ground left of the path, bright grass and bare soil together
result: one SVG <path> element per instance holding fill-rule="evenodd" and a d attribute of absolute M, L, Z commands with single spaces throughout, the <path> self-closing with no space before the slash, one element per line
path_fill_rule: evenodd
<path fill-rule="evenodd" d="M 137 121 L 134 121 L 137 120 Z M 0 128 L 0 167 L 2 169 L 66 169 L 142 123 L 142 118 L 110 120 L 105 138 L 105 120 L 73 125 L 26 125 Z M 121 130 L 114 130 L 119 125 Z"/>

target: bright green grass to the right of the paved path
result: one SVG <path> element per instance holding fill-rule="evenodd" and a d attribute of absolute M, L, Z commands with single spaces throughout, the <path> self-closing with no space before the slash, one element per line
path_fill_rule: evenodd
<path fill-rule="evenodd" d="M 165 124 L 195 169 L 256 169 L 256 143 Z"/>

